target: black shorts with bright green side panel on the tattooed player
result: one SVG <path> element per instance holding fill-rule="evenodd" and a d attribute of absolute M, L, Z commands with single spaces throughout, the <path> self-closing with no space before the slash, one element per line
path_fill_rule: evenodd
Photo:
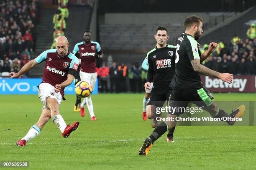
<path fill-rule="evenodd" d="M 200 89 L 192 90 L 178 90 L 172 89 L 169 106 L 170 107 L 187 107 L 189 102 L 197 105 L 198 107 L 208 107 L 213 103 L 213 96 L 209 90 L 207 90 L 203 85 Z M 171 114 L 179 115 L 184 113 L 184 110 L 180 109 L 177 112 Z"/>

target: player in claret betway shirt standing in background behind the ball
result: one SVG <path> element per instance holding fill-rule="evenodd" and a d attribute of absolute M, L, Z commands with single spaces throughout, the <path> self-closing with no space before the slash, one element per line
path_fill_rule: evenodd
<path fill-rule="evenodd" d="M 80 78 L 82 81 L 88 82 L 94 90 L 97 80 L 96 58 L 103 58 L 103 52 L 100 49 L 100 44 L 91 41 L 92 33 L 85 31 L 84 41 L 77 43 L 74 46 L 73 53 L 81 58 Z M 87 104 L 91 115 L 91 120 L 96 120 L 93 112 L 92 95 L 86 97 L 80 105 L 80 114 L 84 117 L 84 105 Z"/>

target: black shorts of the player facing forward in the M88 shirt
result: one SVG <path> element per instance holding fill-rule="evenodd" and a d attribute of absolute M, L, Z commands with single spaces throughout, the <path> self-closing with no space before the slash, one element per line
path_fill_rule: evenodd
<path fill-rule="evenodd" d="M 164 90 L 163 90 L 164 89 Z M 154 105 L 156 107 L 162 107 L 165 101 L 169 101 L 171 89 L 169 87 L 163 88 L 151 92 L 151 97 L 147 105 Z"/>

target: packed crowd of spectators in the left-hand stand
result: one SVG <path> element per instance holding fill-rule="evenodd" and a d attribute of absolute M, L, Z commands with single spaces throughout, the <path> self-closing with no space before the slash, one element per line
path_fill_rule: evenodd
<path fill-rule="evenodd" d="M 0 1 L 0 72 L 18 72 L 35 50 L 39 0 Z"/>

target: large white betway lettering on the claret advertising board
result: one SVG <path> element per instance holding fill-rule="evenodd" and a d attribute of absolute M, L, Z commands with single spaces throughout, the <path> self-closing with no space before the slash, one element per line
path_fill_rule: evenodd
<path fill-rule="evenodd" d="M 215 78 L 210 79 L 208 76 L 205 76 L 205 87 L 206 88 L 238 88 L 240 92 L 244 90 L 246 86 L 247 79 L 234 78 L 231 84 L 223 82 L 222 80 Z"/>

